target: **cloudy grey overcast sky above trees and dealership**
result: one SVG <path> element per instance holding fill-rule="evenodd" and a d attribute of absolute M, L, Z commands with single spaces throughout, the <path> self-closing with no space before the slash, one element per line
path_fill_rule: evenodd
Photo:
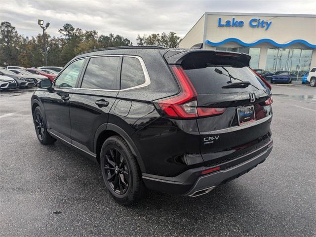
<path fill-rule="evenodd" d="M 316 14 L 316 0 L 0 0 L 0 22 L 9 21 L 24 36 L 60 36 L 65 23 L 99 34 L 119 34 L 135 44 L 138 34 L 176 32 L 180 37 L 205 11 Z"/>

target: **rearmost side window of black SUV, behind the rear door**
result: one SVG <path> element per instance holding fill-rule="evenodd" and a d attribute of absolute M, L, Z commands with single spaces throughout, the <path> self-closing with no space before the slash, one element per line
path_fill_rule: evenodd
<path fill-rule="evenodd" d="M 123 57 L 120 76 L 120 89 L 126 89 L 145 83 L 142 65 L 137 58 Z"/>

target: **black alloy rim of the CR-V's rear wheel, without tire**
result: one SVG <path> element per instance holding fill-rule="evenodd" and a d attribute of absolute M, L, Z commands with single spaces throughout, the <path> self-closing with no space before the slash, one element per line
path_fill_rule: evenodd
<path fill-rule="evenodd" d="M 104 159 L 106 179 L 112 190 L 118 194 L 125 194 L 130 180 L 130 173 L 124 156 L 116 149 L 106 151 Z"/>

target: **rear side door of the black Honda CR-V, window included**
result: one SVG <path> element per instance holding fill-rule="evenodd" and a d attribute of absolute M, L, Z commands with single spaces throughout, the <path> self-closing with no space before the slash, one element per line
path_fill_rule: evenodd
<path fill-rule="evenodd" d="M 89 58 L 79 88 L 70 100 L 72 143 L 88 153 L 93 152 L 95 131 L 108 122 L 118 95 L 121 60 L 120 56 Z"/>

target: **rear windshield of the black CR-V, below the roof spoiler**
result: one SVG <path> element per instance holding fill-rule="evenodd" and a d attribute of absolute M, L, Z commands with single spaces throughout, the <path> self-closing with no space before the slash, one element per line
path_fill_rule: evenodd
<path fill-rule="evenodd" d="M 194 85 L 197 94 L 236 93 L 266 89 L 262 80 L 255 76 L 248 67 L 210 66 L 185 69 L 184 71 Z M 222 88 L 230 83 L 241 81 L 249 81 L 251 84 L 246 88 Z"/>

